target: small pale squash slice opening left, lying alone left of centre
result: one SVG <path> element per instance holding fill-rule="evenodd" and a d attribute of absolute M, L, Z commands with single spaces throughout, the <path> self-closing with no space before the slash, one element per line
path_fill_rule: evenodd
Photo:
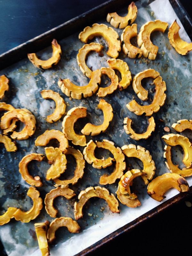
<path fill-rule="evenodd" d="M 43 90 L 41 91 L 41 96 L 46 99 L 52 99 L 55 101 L 56 108 L 55 111 L 47 116 L 46 121 L 49 123 L 56 122 L 64 115 L 66 104 L 63 98 L 60 96 L 58 92 L 53 92 L 52 90 Z"/>

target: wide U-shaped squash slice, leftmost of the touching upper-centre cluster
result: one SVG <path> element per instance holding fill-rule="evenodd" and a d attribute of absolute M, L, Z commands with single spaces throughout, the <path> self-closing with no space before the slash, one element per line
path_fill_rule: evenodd
<path fill-rule="evenodd" d="M 58 81 L 58 85 L 61 88 L 61 91 L 65 93 L 68 97 L 73 99 L 80 100 L 82 98 L 82 94 L 84 98 L 92 96 L 98 89 L 98 84 L 101 83 L 101 71 L 97 69 L 92 72 L 91 80 L 89 84 L 85 86 L 77 86 L 69 79 L 60 79 Z"/>

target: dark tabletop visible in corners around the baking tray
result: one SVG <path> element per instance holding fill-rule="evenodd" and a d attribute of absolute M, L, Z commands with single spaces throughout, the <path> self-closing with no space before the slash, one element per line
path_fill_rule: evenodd
<path fill-rule="evenodd" d="M 0 54 L 22 44 L 105 0 L 1 0 Z M 192 18 L 191 0 L 180 1 Z M 188 198 L 192 203 L 192 197 Z M 120 235 L 90 256 L 191 254 L 192 207 L 185 202 L 146 220 Z M 88 238 L 87 238 L 88 239 Z M 0 255 L 6 255 L 0 244 Z M 62 255 L 60 255 L 62 256 Z"/>

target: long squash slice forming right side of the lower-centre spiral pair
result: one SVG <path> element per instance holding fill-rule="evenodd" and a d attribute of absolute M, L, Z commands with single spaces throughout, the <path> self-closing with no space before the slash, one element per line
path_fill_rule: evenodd
<path fill-rule="evenodd" d="M 100 177 L 99 184 L 113 184 L 116 181 L 116 179 L 120 179 L 123 176 L 123 171 L 126 168 L 126 164 L 124 162 L 125 156 L 122 153 L 121 148 L 115 147 L 114 143 L 109 140 L 103 140 L 102 142 L 97 141 L 97 147 L 108 149 L 113 154 L 114 159 L 116 161 L 114 172 L 112 172 L 110 175 L 102 175 Z"/>

